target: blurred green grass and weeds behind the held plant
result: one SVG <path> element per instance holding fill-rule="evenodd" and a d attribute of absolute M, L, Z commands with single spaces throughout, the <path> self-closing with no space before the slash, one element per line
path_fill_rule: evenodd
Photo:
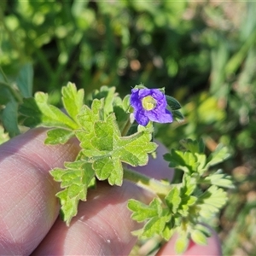
<path fill-rule="evenodd" d="M 0 1 L 0 143 L 24 131 L 20 102 L 38 90 L 59 106 L 67 81 L 86 94 L 116 86 L 121 96 L 135 84 L 165 86 L 185 121 L 157 126 L 156 137 L 168 148 L 184 137 L 202 137 L 209 153 L 230 148 L 219 167 L 236 189 L 212 225 L 224 255 L 254 255 L 255 13 L 256 3 L 231 0 Z M 133 253 L 159 244 L 143 241 Z"/>

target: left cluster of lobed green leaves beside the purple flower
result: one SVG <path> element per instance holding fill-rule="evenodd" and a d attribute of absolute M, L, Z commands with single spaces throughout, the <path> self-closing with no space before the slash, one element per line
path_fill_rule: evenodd
<path fill-rule="evenodd" d="M 152 129 L 149 128 L 139 129 L 131 136 L 122 136 L 114 113 L 116 99 L 120 98 L 113 95 L 114 88 L 103 87 L 100 92 L 106 96 L 107 102 L 97 93 L 88 107 L 84 105 L 84 90 L 77 90 L 74 84 L 68 83 L 61 90 L 68 115 L 51 105 L 48 95 L 43 92 L 26 98 L 20 106 L 20 113 L 26 116 L 25 125 L 51 128 L 45 143 L 67 143 L 74 136 L 80 141 L 81 151 L 77 160 L 66 163 L 65 169 L 55 168 L 50 172 L 63 189 L 57 196 L 67 224 L 77 214 L 79 201 L 86 201 L 87 189 L 95 185 L 96 178 L 108 179 L 110 185 L 120 186 L 124 173 L 122 164 L 145 166 L 148 154 L 157 147 L 151 142 Z M 121 99 L 120 102 L 119 108 L 125 112 L 127 107 Z"/>

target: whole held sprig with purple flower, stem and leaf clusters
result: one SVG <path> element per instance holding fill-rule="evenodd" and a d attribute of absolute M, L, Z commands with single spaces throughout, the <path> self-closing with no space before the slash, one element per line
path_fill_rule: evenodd
<path fill-rule="evenodd" d="M 76 160 L 66 162 L 64 169 L 50 171 L 61 183 L 62 190 L 56 196 L 67 225 L 77 214 L 79 201 L 86 201 L 88 189 L 95 188 L 98 180 L 121 186 L 126 179 L 155 194 L 148 205 L 128 201 L 131 218 L 144 223 L 134 235 L 149 238 L 158 234 L 169 240 L 177 232 L 177 253 L 183 253 L 189 239 L 207 244 L 210 231 L 201 223 L 218 214 L 227 201 L 223 188 L 232 187 L 230 177 L 221 170 L 211 170 L 230 156 L 227 148 L 219 145 L 207 157 L 202 140 L 184 139 L 183 149 L 172 149 L 164 155 L 171 168 L 182 172 L 181 180 L 159 181 L 129 166 L 145 166 L 148 156 L 154 154 L 154 122 L 183 119 L 176 99 L 166 96 L 163 88 L 148 89 L 142 84 L 124 99 L 113 87 L 102 86 L 84 104 L 84 90 L 77 90 L 72 83 L 62 88 L 61 95 L 66 113 L 50 105 L 43 92 L 25 98 L 20 113 L 26 117 L 26 126 L 49 127 L 47 144 L 64 144 L 71 137 L 80 142 Z"/>

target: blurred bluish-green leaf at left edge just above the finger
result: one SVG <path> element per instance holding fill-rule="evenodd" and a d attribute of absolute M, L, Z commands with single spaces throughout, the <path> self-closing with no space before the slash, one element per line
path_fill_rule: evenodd
<path fill-rule="evenodd" d="M 2 113 L 3 127 L 9 133 L 9 137 L 15 137 L 20 134 L 18 127 L 18 103 L 8 102 Z"/>

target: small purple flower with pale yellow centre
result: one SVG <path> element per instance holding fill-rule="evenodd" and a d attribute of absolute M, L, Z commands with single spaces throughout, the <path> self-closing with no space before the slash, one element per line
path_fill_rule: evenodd
<path fill-rule="evenodd" d="M 159 89 L 131 90 L 131 107 L 139 125 L 148 125 L 149 120 L 157 123 L 172 123 L 172 113 L 166 109 L 166 96 Z"/>

